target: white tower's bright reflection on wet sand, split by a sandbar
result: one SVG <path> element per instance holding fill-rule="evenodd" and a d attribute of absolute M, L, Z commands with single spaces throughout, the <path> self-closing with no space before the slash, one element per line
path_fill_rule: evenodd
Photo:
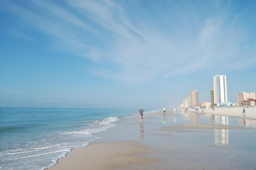
<path fill-rule="evenodd" d="M 215 124 L 228 125 L 229 117 L 222 115 L 212 115 L 212 120 Z M 214 129 L 215 144 L 229 144 L 229 130 L 228 129 Z"/>

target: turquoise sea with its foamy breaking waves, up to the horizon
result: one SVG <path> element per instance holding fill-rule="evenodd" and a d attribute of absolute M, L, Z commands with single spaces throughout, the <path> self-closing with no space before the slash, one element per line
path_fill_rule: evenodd
<path fill-rule="evenodd" d="M 138 111 L 0 108 L 0 169 L 46 169 L 72 148 L 98 139 L 97 132 Z"/>

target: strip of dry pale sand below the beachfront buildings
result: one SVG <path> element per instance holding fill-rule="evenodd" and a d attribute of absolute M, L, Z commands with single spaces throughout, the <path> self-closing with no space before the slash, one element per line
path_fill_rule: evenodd
<path fill-rule="evenodd" d="M 211 110 L 211 108 L 208 109 L 203 109 L 203 113 L 207 114 L 219 114 L 219 115 L 224 115 L 224 116 L 233 116 L 233 117 L 242 117 L 242 110 L 244 107 L 231 107 L 231 108 L 217 108 L 215 107 L 215 111 Z M 181 111 L 184 109 L 181 109 Z M 195 109 L 189 109 L 189 111 L 194 112 Z M 199 109 L 199 113 L 202 113 L 202 109 Z M 256 120 L 256 107 L 245 107 L 245 113 L 247 119 L 255 119 Z"/>

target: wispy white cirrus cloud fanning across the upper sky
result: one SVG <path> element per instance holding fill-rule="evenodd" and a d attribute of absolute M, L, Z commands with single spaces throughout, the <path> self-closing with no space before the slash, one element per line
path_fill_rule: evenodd
<path fill-rule="evenodd" d="M 143 4 L 147 7 L 107 0 L 31 1 L 29 7 L 3 3 L 57 48 L 99 63 L 91 71 L 100 77 L 138 82 L 256 65 L 256 41 L 248 25 L 241 26 L 255 11 L 234 12 L 232 3 L 210 2 L 201 10 L 183 2 Z"/>

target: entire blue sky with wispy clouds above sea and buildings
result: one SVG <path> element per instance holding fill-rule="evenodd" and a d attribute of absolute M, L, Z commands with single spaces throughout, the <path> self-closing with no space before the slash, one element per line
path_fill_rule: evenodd
<path fill-rule="evenodd" d="M 0 1 L 0 107 L 179 107 L 256 90 L 255 1 Z"/>

